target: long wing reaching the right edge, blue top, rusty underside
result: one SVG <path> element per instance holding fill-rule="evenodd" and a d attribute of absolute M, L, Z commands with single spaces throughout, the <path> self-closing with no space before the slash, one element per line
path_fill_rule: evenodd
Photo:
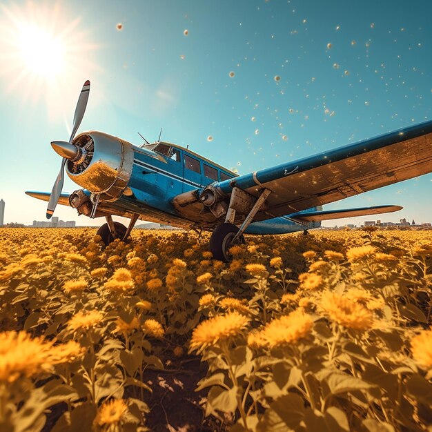
<path fill-rule="evenodd" d="M 255 221 L 291 215 L 369 190 L 432 172 L 432 121 L 220 181 L 224 196 L 233 187 L 259 197 L 271 191 Z M 191 203 L 192 204 L 192 203 Z"/>

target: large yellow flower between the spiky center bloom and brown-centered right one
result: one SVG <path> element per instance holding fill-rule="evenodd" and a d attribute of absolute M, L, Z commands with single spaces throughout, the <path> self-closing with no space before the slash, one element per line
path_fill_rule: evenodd
<path fill-rule="evenodd" d="M 313 320 L 302 309 L 296 309 L 289 315 L 283 315 L 269 322 L 262 330 L 262 339 L 268 346 L 293 344 L 306 337 L 312 328 Z"/>

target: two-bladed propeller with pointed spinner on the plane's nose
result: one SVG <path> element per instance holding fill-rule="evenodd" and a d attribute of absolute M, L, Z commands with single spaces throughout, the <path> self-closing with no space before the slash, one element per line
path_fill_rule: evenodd
<path fill-rule="evenodd" d="M 81 124 L 81 121 L 84 117 L 84 112 L 86 112 L 86 106 L 88 101 L 88 95 L 90 94 L 90 81 L 86 81 L 81 90 L 81 93 L 78 98 L 77 108 L 75 108 L 75 115 L 72 125 L 72 133 L 70 134 L 69 141 L 52 141 L 51 146 L 54 150 L 59 153 L 63 157 L 61 159 L 61 167 L 59 171 L 59 175 L 57 175 L 57 179 L 55 180 L 54 186 L 52 186 L 52 191 L 50 195 L 50 202 L 48 202 L 48 208 L 46 209 L 46 218 L 50 219 L 52 214 L 54 213 L 55 207 L 57 206 L 57 202 L 59 201 L 59 197 L 61 194 L 61 190 L 63 189 L 63 181 L 64 181 L 64 166 L 66 165 L 66 159 L 72 159 L 77 155 L 78 149 L 72 144 L 72 140 L 75 137 L 75 133 Z"/>

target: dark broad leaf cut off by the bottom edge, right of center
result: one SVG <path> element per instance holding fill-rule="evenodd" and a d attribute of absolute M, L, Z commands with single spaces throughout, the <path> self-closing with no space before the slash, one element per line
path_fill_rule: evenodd
<path fill-rule="evenodd" d="M 288 394 L 275 400 L 257 424 L 257 432 L 286 432 L 304 420 L 304 402 L 299 395 Z"/>

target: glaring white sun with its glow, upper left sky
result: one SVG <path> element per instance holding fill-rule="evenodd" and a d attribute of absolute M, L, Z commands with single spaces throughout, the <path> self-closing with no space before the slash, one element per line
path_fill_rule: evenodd
<path fill-rule="evenodd" d="M 97 44 L 88 42 L 84 17 L 59 1 L 0 5 L 0 90 L 23 102 L 46 99 L 50 118 L 61 115 L 60 101 L 72 97 L 97 66 Z M 61 97 L 59 97 L 61 95 Z"/>

